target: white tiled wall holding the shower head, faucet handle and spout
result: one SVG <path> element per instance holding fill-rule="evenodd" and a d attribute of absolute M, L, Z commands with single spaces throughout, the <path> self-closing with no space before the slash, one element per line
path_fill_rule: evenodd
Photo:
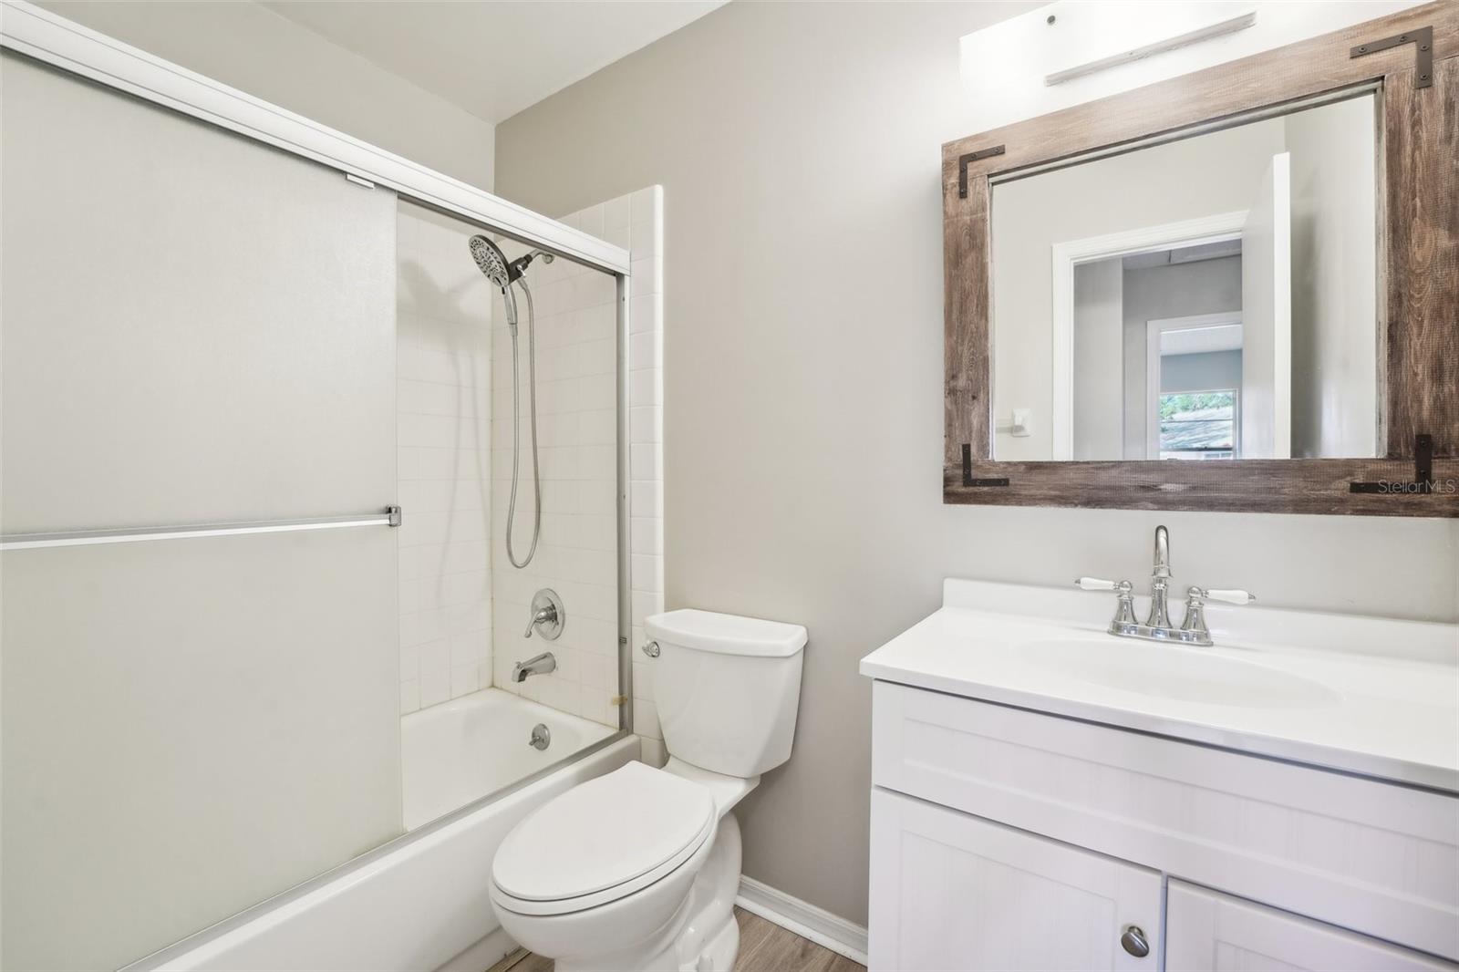
<path fill-rule="evenodd" d="M 563 222 L 626 247 L 633 260 L 629 342 L 630 506 L 633 645 L 642 641 L 642 619 L 662 609 L 662 486 L 658 450 L 659 339 L 662 333 L 662 191 L 658 187 L 623 196 L 563 217 Z M 509 245 L 508 255 L 522 248 Z M 525 569 L 506 562 L 505 544 L 492 549 L 495 571 L 495 684 L 553 708 L 619 724 L 617 673 L 617 288 L 614 280 L 557 261 L 535 263 L 528 282 L 537 302 L 538 445 L 543 464 L 543 531 L 537 556 Z M 519 328 L 519 374 L 527 371 L 525 302 Z M 500 302 L 493 331 L 493 517 L 506 522 L 512 468 L 511 336 Z M 525 381 L 522 384 L 525 390 Z M 514 546 L 518 558 L 531 543 L 533 495 L 527 448 L 527 401 L 521 403 L 524 448 Z M 641 522 L 642 521 L 642 522 Z M 527 639 L 528 606 L 543 587 L 563 600 L 568 623 L 556 642 Z M 541 651 L 557 658 L 557 671 L 511 682 L 512 664 Z M 635 690 L 635 730 L 659 737 L 646 673 Z M 642 701 L 642 702 L 641 702 Z M 661 750 L 662 746 L 659 744 Z M 651 750 L 652 752 L 652 750 Z"/>

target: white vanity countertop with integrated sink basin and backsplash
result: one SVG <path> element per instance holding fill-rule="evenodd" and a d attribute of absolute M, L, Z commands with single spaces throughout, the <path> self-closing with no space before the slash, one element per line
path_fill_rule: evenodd
<path fill-rule="evenodd" d="M 1107 635 L 1113 594 L 947 581 L 943 603 L 862 658 L 861 674 L 1459 792 L 1456 625 L 1208 606 L 1215 647 L 1188 648 Z M 1137 613 L 1144 610 L 1137 597 Z M 1172 604 L 1176 622 L 1182 610 Z M 1274 683 L 1297 676 L 1326 690 L 1284 708 L 1259 698 L 1208 701 L 1201 683 L 1186 679 L 1185 698 L 1167 698 L 1026 657 L 1026 645 L 1050 639 L 1075 649 L 1087 639 L 1094 651 L 1123 651 L 1142 666 L 1151 652 L 1215 652 L 1271 671 Z M 1113 658 L 1118 666 L 1121 655 Z"/>

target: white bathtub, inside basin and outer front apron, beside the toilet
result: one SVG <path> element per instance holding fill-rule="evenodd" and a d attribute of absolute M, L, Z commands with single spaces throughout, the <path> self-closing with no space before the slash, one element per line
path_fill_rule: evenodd
<path fill-rule="evenodd" d="M 528 746 L 538 722 L 546 750 Z M 403 836 L 127 969 L 480 972 L 515 947 L 489 896 L 508 830 L 638 757 L 636 736 L 499 689 L 413 712 L 401 720 Z"/>

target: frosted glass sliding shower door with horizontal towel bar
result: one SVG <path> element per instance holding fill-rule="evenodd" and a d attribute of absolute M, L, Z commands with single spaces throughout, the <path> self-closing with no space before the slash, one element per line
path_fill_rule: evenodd
<path fill-rule="evenodd" d="M 0 533 L 397 502 L 394 194 L 0 70 Z M 124 965 L 401 832 L 387 525 L 9 549 L 0 597 L 4 968 Z"/>

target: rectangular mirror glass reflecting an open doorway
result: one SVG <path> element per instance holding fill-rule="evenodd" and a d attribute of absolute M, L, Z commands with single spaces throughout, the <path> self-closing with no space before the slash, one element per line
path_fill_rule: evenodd
<path fill-rule="evenodd" d="M 1371 90 L 992 184 L 995 460 L 1380 454 Z"/>

